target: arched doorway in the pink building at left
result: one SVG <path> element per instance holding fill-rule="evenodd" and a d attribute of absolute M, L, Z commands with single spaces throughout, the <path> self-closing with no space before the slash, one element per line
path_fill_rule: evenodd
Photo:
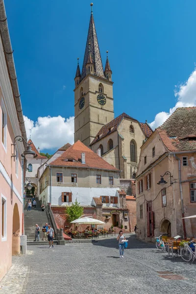
<path fill-rule="evenodd" d="M 14 205 L 12 228 L 12 255 L 17 255 L 20 254 L 20 217 L 17 203 Z"/>

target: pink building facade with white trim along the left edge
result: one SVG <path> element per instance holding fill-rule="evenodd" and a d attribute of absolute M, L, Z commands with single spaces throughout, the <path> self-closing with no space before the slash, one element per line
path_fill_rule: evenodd
<path fill-rule="evenodd" d="M 5 20 L 5 21 L 3 21 Z M 0 0 L 0 280 L 12 264 L 12 255 L 20 254 L 23 230 L 24 161 L 26 140 L 20 94 L 16 80 L 9 32 L 3 1 Z M 11 77 L 11 78 L 10 78 Z M 14 160 L 15 159 L 15 160 Z"/>

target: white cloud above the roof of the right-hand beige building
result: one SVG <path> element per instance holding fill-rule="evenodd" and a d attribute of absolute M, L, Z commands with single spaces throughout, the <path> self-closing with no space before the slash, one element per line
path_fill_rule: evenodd
<path fill-rule="evenodd" d="M 169 112 L 162 111 L 155 116 L 154 121 L 150 123 L 153 129 L 163 124 L 176 108 L 196 106 L 196 69 L 184 84 L 175 86 L 174 95 L 177 98 L 175 106 L 170 108 Z"/>

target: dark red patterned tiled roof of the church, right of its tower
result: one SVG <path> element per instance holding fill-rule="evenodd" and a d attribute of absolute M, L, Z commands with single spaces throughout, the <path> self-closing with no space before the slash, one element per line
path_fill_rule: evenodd
<path fill-rule="evenodd" d="M 131 119 L 131 120 L 134 120 L 134 121 L 138 122 L 137 120 L 133 119 L 132 117 L 130 117 L 129 115 L 127 115 L 126 113 L 123 112 L 116 119 L 114 119 L 110 123 L 107 123 L 104 126 L 102 126 L 100 131 L 97 133 L 97 136 L 91 142 L 90 146 L 93 145 L 94 143 L 96 143 L 98 140 L 100 140 L 100 139 L 104 138 L 105 136 L 107 136 L 107 135 L 113 133 L 114 131 L 116 131 L 119 124 L 122 122 L 123 118 L 128 118 L 128 119 Z M 149 137 L 152 134 L 152 130 L 150 129 L 148 124 L 147 123 L 140 123 L 140 125 L 141 125 L 141 128 L 142 128 L 145 136 Z"/>

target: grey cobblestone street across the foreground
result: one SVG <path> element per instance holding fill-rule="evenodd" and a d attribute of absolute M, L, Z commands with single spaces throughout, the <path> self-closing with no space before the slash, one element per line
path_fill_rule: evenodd
<path fill-rule="evenodd" d="M 26 256 L 13 258 L 12 268 L 0 282 L 0 293 L 196 293 L 195 263 L 159 252 L 155 245 L 137 241 L 134 235 L 128 240 L 121 259 L 114 238 L 52 249 L 28 246 Z"/>

